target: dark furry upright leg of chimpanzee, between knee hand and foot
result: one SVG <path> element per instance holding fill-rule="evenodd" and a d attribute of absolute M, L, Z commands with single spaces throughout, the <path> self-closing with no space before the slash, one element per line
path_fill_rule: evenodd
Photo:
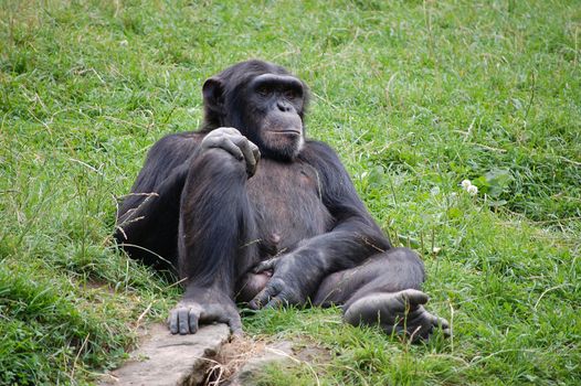
<path fill-rule="evenodd" d="M 250 259 L 256 226 L 246 195 L 246 169 L 221 149 L 209 149 L 191 165 L 182 192 L 179 276 L 197 287 L 234 296 L 235 280 Z"/>

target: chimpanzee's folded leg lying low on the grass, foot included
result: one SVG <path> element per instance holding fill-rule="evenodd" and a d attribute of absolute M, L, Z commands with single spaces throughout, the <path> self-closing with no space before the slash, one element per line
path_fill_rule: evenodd
<path fill-rule="evenodd" d="M 405 332 L 413 341 L 427 339 L 434 328 L 447 333 L 447 322 L 427 312 L 422 260 L 408 248 L 392 248 L 363 265 L 327 277 L 314 304 L 341 304 L 353 325 L 379 324 L 385 332 Z"/>

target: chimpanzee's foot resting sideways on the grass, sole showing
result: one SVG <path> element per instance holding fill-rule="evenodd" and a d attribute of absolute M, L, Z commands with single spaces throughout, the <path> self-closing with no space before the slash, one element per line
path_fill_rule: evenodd
<path fill-rule="evenodd" d="M 450 335 L 447 321 L 422 307 L 427 300 L 425 293 L 414 289 L 370 293 L 349 304 L 344 320 L 352 325 L 379 325 L 388 334 L 403 332 L 414 343 L 427 340 L 437 328 L 442 328 L 446 336 Z"/>

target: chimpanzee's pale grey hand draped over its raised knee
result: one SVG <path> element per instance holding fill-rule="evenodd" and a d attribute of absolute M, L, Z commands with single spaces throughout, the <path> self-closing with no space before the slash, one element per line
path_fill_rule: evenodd
<path fill-rule="evenodd" d="M 261 158 L 258 147 L 232 127 L 221 127 L 210 131 L 210 133 L 203 138 L 200 148 L 202 151 L 212 148 L 223 149 L 236 160 L 245 161 L 249 176 L 254 175 L 256 163 Z"/>

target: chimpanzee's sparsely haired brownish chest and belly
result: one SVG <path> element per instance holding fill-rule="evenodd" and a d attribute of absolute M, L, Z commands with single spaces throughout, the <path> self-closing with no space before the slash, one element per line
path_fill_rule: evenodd
<path fill-rule="evenodd" d="M 323 204 L 317 171 L 309 164 L 263 159 L 247 181 L 262 255 L 274 256 L 326 233 L 332 216 Z"/>

